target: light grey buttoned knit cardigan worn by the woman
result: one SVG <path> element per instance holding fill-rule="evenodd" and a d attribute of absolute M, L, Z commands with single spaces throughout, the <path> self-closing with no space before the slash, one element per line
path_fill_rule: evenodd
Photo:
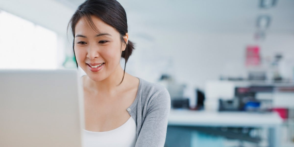
<path fill-rule="evenodd" d="M 163 86 L 139 78 L 136 99 L 127 111 L 137 125 L 135 147 L 163 147 L 171 98 Z"/>

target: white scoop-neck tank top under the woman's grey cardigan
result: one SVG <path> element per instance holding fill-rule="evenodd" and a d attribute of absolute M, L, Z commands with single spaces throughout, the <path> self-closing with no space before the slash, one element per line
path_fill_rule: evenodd
<path fill-rule="evenodd" d="M 105 131 L 93 132 L 83 131 L 84 147 L 134 147 L 137 141 L 137 126 L 132 117 L 130 117 L 120 127 Z"/>

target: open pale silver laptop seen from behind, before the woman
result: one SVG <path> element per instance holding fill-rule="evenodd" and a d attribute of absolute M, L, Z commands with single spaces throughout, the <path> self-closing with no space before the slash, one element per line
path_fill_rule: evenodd
<path fill-rule="evenodd" d="M 77 70 L 0 70 L 1 147 L 81 147 Z"/>

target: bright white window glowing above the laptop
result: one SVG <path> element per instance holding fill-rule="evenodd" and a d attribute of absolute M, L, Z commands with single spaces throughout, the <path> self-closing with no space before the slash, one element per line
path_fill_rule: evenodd
<path fill-rule="evenodd" d="M 57 34 L 0 10 L 0 69 L 56 69 Z"/>

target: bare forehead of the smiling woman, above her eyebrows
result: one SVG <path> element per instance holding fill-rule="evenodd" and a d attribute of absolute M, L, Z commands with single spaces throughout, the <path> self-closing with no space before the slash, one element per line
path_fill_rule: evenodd
<path fill-rule="evenodd" d="M 82 17 L 75 26 L 75 34 L 86 35 L 97 34 L 97 33 L 109 33 L 111 35 L 119 34 L 115 28 L 108 25 L 100 18 L 91 16 L 92 24 L 86 17 Z M 94 25 L 94 26 L 93 26 Z M 96 29 L 94 28 L 96 27 Z"/>

